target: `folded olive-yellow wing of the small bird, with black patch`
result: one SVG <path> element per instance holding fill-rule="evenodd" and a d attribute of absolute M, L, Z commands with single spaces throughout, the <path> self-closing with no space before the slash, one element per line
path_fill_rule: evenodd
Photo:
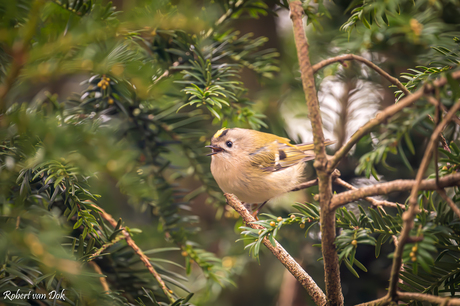
<path fill-rule="evenodd" d="M 333 143 L 334 141 L 331 140 L 325 141 L 325 145 Z M 275 172 L 314 159 L 315 154 L 312 150 L 313 143 L 292 145 L 274 141 L 250 153 L 249 157 L 253 166 L 262 171 Z"/>

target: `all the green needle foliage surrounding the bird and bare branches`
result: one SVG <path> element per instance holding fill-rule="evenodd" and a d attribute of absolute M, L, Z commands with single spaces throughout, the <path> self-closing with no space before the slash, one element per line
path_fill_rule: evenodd
<path fill-rule="evenodd" d="M 288 7 L 287 1 L 272 3 Z M 345 16 L 340 5 L 304 3 L 307 23 L 323 31 L 309 33 L 312 57 L 351 50 L 384 65 L 387 58 L 391 63 L 397 57 L 393 49 L 404 49 L 411 61 L 405 57 L 404 64 L 388 71 L 413 67 L 401 75 L 410 91 L 445 76 L 448 84 L 434 93 L 436 98 L 446 109 L 458 100 L 459 84 L 450 76 L 460 61 L 458 28 L 444 16 L 450 9 L 456 12 L 457 1 L 353 1 L 345 4 L 349 6 Z M 217 208 L 218 218 L 224 212 L 203 147 L 221 126 L 267 128 L 270 111 L 254 107 L 254 101 L 262 99 L 259 96 L 247 98 L 240 79 L 243 69 L 272 89 L 264 93 L 272 99 L 286 91 L 281 84 L 293 92 L 301 86 L 296 64 L 287 59 L 280 65 L 280 53 L 264 48 L 267 38 L 230 28 L 232 21 L 275 14 L 267 3 L 225 0 L 205 1 L 203 6 L 142 0 L 121 12 L 101 0 L 0 4 L 1 288 L 34 293 L 66 290 L 65 302 L 46 300 L 47 305 L 191 305 L 206 299 L 215 303 L 212 295 L 220 290 L 216 287 L 234 284 L 236 269 L 208 251 L 208 238 L 197 235 L 203 233 L 199 218 L 189 212 L 191 202 L 203 194 Z M 338 32 L 338 23 L 347 33 Z M 284 51 L 293 54 L 292 43 L 285 45 Z M 280 69 L 284 71 L 278 74 Z M 331 67 L 324 75 L 340 69 Z M 342 75 L 335 76 L 340 82 L 353 80 L 356 74 L 359 82 L 381 83 L 375 73 L 361 67 L 339 72 Z M 60 88 L 67 78 L 82 81 L 80 87 L 74 86 L 80 93 L 71 95 L 68 88 Z M 404 96 L 394 93 L 398 100 Z M 350 103 L 342 113 L 350 110 L 349 116 L 357 116 L 353 109 L 369 103 Z M 348 165 L 356 167 L 357 174 L 386 179 L 403 163 L 412 175 L 417 153 L 423 151 L 418 140 L 433 131 L 429 116 L 435 114 L 435 107 L 426 101 L 399 113 L 358 144 Z M 330 116 L 325 121 L 333 120 Z M 453 125 L 443 133 L 448 142 L 457 141 Z M 433 169 L 440 176 L 457 172 L 457 145 L 452 142 L 450 152 L 440 150 Z M 458 188 L 448 193 L 459 202 Z M 113 201 L 111 194 L 120 199 Z M 143 213 L 146 220 L 138 224 L 125 215 L 126 210 L 120 213 L 119 202 L 128 203 L 129 212 Z M 421 193 L 419 204 L 411 242 L 403 253 L 404 283 L 398 286 L 454 296 L 459 279 L 458 218 L 436 192 Z M 117 225 L 109 223 L 98 207 L 111 212 Z M 242 227 L 245 248 L 259 258 L 263 239 L 275 245 L 286 225 L 298 225 L 299 237 L 316 239 L 318 205 L 298 203 L 294 208 L 297 212 L 287 218 L 262 214 L 264 219 L 256 222 L 262 230 Z M 359 277 L 358 269 L 367 271 L 356 259 L 362 245 L 375 245 L 376 257 L 388 255 L 383 245 L 398 238 L 402 214 L 401 207 L 338 209 L 340 235 L 335 245 L 340 263 Z M 138 243 L 148 235 L 146 250 L 140 252 L 166 282 L 172 299 L 126 244 L 123 230 Z M 196 283 L 206 283 L 201 289 L 207 295 L 189 292 L 195 284 L 187 281 L 196 275 L 206 280 Z"/>

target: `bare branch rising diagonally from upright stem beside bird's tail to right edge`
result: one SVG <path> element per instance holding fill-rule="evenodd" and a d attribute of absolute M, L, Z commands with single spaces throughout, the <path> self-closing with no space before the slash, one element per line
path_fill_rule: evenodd
<path fill-rule="evenodd" d="M 452 78 L 458 79 L 460 78 L 460 71 L 455 71 L 452 73 Z M 447 83 L 446 78 L 440 78 L 436 81 L 433 82 L 434 87 L 441 87 L 444 86 Z M 411 105 L 418 99 L 420 99 L 426 89 L 430 89 L 431 85 L 424 85 L 422 88 L 417 90 L 415 93 L 405 97 L 401 101 L 399 101 L 396 104 L 393 104 L 389 107 L 387 107 L 385 110 L 382 112 L 378 113 L 375 118 L 371 119 L 369 122 L 367 122 L 364 126 L 362 126 L 353 136 L 351 136 L 350 140 L 342 147 L 340 148 L 333 158 L 331 159 L 329 166 L 328 166 L 328 172 L 332 172 L 335 167 L 339 164 L 339 162 L 342 160 L 343 157 L 351 150 L 351 148 L 367 133 L 369 133 L 374 127 L 377 125 L 381 124 L 388 118 L 392 117 L 396 113 L 398 113 L 400 110 L 403 108 Z"/>

